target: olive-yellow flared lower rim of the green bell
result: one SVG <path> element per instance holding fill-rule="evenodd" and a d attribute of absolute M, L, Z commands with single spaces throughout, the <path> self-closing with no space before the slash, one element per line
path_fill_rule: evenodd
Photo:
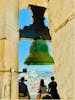
<path fill-rule="evenodd" d="M 51 56 L 29 56 L 25 60 L 24 64 L 27 65 L 52 65 L 54 60 Z"/>

